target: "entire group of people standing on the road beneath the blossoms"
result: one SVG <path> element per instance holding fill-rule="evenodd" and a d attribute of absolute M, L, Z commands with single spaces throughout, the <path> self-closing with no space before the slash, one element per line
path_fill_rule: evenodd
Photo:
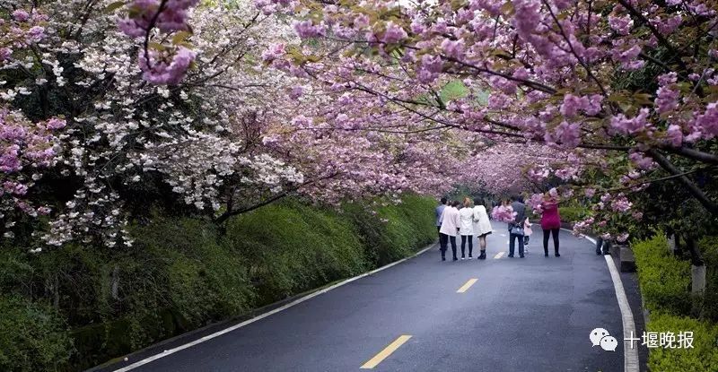
<path fill-rule="evenodd" d="M 457 236 L 461 237 L 461 259 L 466 259 L 466 243 L 468 241 L 468 258 L 472 257 L 473 237 L 477 236 L 481 247 L 481 254 L 478 259 L 486 259 L 486 237 L 492 233 L 491 221 L 486 212 L 486 207 L 481 205 L 479 199 L 471 200 L 466 198 L 463 208 L 460 208 L 459 201 L 449 203 L 442 198 L 441 204 L 436 207 L 436 227 L 439 230 L 439 244 L 442 252 L 442 261 L 446 261 L 446 251 L 451 243 L 453 260 L 457 261 Z M 531 223 L 526 212 L 526 204 L 523 203 L 521 195 L 512 196 L 511 200 L 503 202 L 504 207 L 511 207 L 515 213 L 513 221 L 508 222 L 509 230 L 509 257 L 513 257 L 516 248 L 516 241 L 519 246 L 519 257 L 525 256 L 525 246 L 528 244 L 532 234 Z M 560 257 L 559 231 L 561 229 L 561 216 L 558 212 L 556 198 L 548 195 L 540 204 L 541 229 L 543 230 L 544 256 L 548 256 L 548 240 L 553 237 L 554 255 Z"/>

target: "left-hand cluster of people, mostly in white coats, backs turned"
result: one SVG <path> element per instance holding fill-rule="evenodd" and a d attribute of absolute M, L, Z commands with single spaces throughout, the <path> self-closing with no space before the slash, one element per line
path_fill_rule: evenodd
<path fill-rule="evenodd" d="M 474 252 L 474 236 L 478 237 L 481 253 L 478 255 L 479 260 L 486 259 L 486 236 L 491 234 L 491 221 L 488 219 L 486 207 L 481 205 L 479 199 L 464 199 L 463 208 L 459 209 L 460 202 L 453 201 L 448 203 L 447 199 L 442 198 L 442 203 L 436 207 L 436 227 L 439 230 L 439 245 L 442 251 L 442 261 L 446 261 L 446 250 L 451 242 L 451 252 L 453 260 L 457 261 L 456 256 L 456 237 L 461 237 L 461 259 L 466 259 L 466 246 L 468 242 L 468 258 L 473 258 Z"/>

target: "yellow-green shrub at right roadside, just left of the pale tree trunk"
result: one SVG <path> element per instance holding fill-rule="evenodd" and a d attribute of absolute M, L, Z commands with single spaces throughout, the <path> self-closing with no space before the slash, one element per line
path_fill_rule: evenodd
<path fill-rule="evenodd" d="M 633 251 L 645 307 L 687 315 L 691 308 L 690 264 L 670 255 L 663 234 L 636 242 Z"/>

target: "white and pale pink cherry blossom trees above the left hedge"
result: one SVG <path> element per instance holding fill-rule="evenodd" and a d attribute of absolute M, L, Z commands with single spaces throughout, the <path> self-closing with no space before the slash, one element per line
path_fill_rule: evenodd
<path fill-rule="evenodd" d="M 31 231 L 15 243 L 35 251 L 115 247 L 152 207 L 222 223 L 285 195 L 338 203 L 451 187 L 443 143 L 355 131 L 327 109 L 341 92 L 278 70 L 275 55 L 301 40 L 276 13 L 288 3 L 257 5 L 0 2 L 4 236 Z M 370 116 L 403 120 L 381 105 Z"/>

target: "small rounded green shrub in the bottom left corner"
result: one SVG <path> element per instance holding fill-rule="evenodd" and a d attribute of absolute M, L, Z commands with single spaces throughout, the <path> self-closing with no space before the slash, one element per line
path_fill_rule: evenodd
<path fill-rule="evenodd" d="M 0 370 L 54 371 L 71 351 L 66 324 L 51 307 L 0 296 Z"/>

